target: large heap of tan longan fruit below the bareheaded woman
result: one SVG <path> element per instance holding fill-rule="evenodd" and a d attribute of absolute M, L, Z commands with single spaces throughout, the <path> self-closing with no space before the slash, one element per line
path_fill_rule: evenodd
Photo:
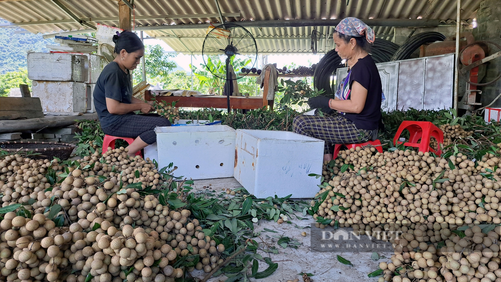
<path fill-rule="evenodd" d="M 2 281 L 171 282 L 185 270 L 210 272 L 223 262 L 224 245 L 205 235 L 190 210 L 171 210 L 141 192 L 162 179 L 152 161 L 124 148 L 74 166 L 12 155 L 0 167 L 3 206 L 22 204 L 0 221 Z M 45 175 L 51 168 L 53 185 Z M 127 188 L 139 181 L 142 188 Z M 191 255 L 199 257 L 193 267 L 172 267 L 182 256 L 193 261 Z"/>

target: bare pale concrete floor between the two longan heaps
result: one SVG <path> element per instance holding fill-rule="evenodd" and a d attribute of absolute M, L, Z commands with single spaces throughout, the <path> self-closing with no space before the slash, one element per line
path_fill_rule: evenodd
<path fill-rule="evenodd" d="M 217 179 L 202 179 L 195 180 L 194 187 L 195 190 L 204 190 L 203 186 L 209 186 L 214 189 L 221 188 L 234 188 L 241 187 L 240 183 L 235 180 L 235 178 L 217 178 Z M 302 214 L 298 214 L 300 217 L 303 217 Z M 335 251 L 315 251 L 311 249 L 311 232 L 312 228 L 303 228 L 300 229 L 296 227 L 298 226 L 310 226 L 313 223 L 313 218 L 310 215 L 306 216 L 307 219 L 299 220 L 295 216 L 290 218 L 292 224 L 282 223 L 278 224 L 273 221 L 268 220 L 260 220 L 255 226 L 257 231 L 262 231 L 260 238 L 255 238 L 258 242 L 261 242 L 263 239 L 266 243 L 275 245 L 279 250 L 278 254 L 274 254 L 272 252 L 264 252 L 258 251 L 263 257 L 269 256 L 273 262 L 277 262 L 279 264 L 278 269 L 271 275 L 263 279 L 259 279 L 259 281 L 263 282 L 286 282 L 291 279 L 299 278 L 300 281 L 303 281 L 301 275 L 298 273 L 306 272 L 312 273 L 314 276 L 311 276 L 312 281 L 335 281 L 335 280 L 345 280 L 345 281 L 377 281 L 376 278 L 370 278 L 367 276 L 367 273 L 372 272 L 378 269 L 378 264 L 381 261 L 387 261 L 388 258 L 393 253 L 393 249 L 387 248 L 385 250 L 378 250 L 379 256 L 386 256 L 387 258 L 380 258 L 379 260 L 372 260 L 370 252 L 335 252 Z M 269 228 L 272 230 L 279 231 L 278 233 L 265 231 L 264 228 Z M 315 228 L 315 227 L 313 227 Z M 330 228 L 330 229 L 329 229 Z M 350 232 L 352 228 L 343 228 L 344 230 Z M 319 230 L 319 229 L 317 229 Z M 329 226 L 326 230 L 334 231 L 334 228 Z M 340 229 L 338 229 L 340 230 Z M 305 231 L 306 236 L 302 236 L 301 232 Z M 282 246 L 277 244 L 276 238 L 273 238 L 273 235 L 285 235 L 291 239 L 298 240 L 301 244 L 297 249 L 292 247 L 287 247 L 284 249 Z M 370 242 L 368 237 L 363 235 L 360 240 L 357 242 Z M 346 242 L 346 241 L 343 241 Z M 337 255 L 341 255 L 342 257 L 348 259 L 353 263 L 353 266 L 348 266 L 342 264 L 337 260 Z M 259 271 L 266 269 L 268 265 L 264 261 L 260 261 Z M 203 277 L 204 273 L 196 271 L 192 273 L 192 275 L 197 275 L 197 277 Z M 224 275 L 219 277 L 213 277 L 208 281 L 216 282 L 223 281 L 226 279 Z M 255 281 L 257 279 L 251 278 L 251 281 Z"/>

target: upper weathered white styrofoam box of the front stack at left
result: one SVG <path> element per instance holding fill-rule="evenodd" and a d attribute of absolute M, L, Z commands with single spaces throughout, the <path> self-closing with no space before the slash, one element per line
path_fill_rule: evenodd
<path fill-rule="evenodd" d="M 87 56 L 70 53 L 28 53 L 28 78 L 84 82 L 88 78 Z"/>

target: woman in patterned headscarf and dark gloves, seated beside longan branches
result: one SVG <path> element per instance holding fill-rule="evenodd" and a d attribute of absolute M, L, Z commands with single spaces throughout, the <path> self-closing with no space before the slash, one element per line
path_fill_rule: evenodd
<path fill-rule="evenodd" d="M 336 26 L 333 36 L 338 55 L 348 64 L 348 75 L 338 85 L 335 97 L 308 100 L 310 107 L 321 108 L 324 116 L 300 115 L 293 122 L 294 132 L 325 141 L 327 161 L 333 158 L 334 144 L 377 138 L 383 92 L 377 66 L 368 53 L 374 31 L 360 19 L 347 17 Z"/>

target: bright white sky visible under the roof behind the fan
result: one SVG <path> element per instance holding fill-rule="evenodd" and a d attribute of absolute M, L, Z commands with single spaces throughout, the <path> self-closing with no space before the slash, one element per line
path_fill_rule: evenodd
<path fill-rule="evenodd" d="M 155 39 L 155 38 L 151 38 L 151 39 L 146 39 L 144 40 L 145 44 L 146 45 L 156 45 L 156 44 L 160 44 L 164 51 L 173 51 L 173 49 L 167 45 L 167 43 L 165 43 L 164 41 L 160 40 L 160 39 Z M 259 52 L 258 52 L 259 54 Z M 321 55 L 319 54 L 269 54 L 268 55 L 268 62 L 269 63 L 277 63 L 277 67 L 283 67 L 285 64 L 290 64 L 291 62 L 294 62 L 296 65 L 310 65 L 310 61 L 311 63 L 318 63 L 319 60 L 321 58 Z M 190 71 L 190 67 L 189 67 L 189 64 L 191 63 L 191 55 L 189 54 L 178 54 L 176 57 L 174 57 L 172 59 L 173 61 L 175 61 L 177 63 L 177 65 L 186 70 L 187 72 L 191 72 Z M 193 56 L 193 65 L 194 66 L 198 66 L 200 65 L 200 63 L 203 64 L 203 59 L 202 59 L 202 56 L 201 55 L 194 55 Z M 259 68 L 262 68 L 262 65 L 261 65 L 261 56 L 258 58 L 258 67 Z"/>

